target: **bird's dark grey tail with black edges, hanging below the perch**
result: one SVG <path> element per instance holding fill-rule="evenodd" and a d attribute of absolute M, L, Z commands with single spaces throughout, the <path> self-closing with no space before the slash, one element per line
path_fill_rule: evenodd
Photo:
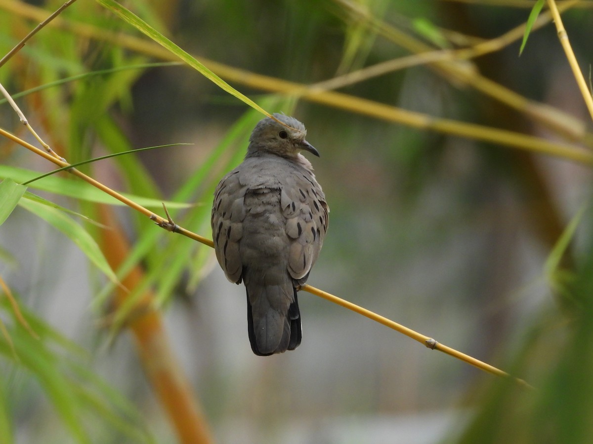
<path fill-rule="evenodd" d="M 301 343 L 301 313 L 298 309 L 297 289 L 286 301 L 285 290 L 279 285 L 247 288 L 247 329 L 251 350 L 258 356 L 269 356 L 294 350 Z M 280 307 L 278 306 L 280 305 Z M 286 307 L 288 308 L 282 308 Z"/>

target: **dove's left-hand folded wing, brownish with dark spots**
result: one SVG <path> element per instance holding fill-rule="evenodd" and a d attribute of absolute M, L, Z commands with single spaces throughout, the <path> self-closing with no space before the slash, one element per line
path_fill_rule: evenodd
<path fill-rule="evenodd" d="M 211 218 L 216 259 L 227 279 L 237 284 L 241 282 L 243 272 L 239 242 L 243 236 L 246 215 L 243 201 L 247 189 L 241 185 L 239 173 L 239 169 L 232 170 L 216 186 Z"/>

